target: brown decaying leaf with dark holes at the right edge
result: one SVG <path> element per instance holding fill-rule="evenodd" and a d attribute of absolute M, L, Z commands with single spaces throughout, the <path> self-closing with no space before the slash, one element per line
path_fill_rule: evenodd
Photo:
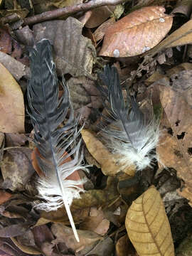
<path fill-rule="evenodd" d="M 178 177 L 185 181 L 185 188 L 180 193 L 192 203 L 192 110 L 181 92 L 176 92 L 171 87 L 160 88 L 161 105 L 173 137 L 168 134 L 162 138 L 164 142 L 161 141 L 157 151 L 162 163 L 167 167 L 174 167 Z"/>

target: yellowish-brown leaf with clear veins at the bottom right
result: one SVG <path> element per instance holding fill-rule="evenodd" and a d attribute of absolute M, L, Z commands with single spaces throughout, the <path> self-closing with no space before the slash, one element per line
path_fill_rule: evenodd
<path fill-rule="evenodd" d="M 140 256 L 174 256 L 169 220 L 161 196 L 154 186 L 133 201 L 127 212 L 125 226 Z"/>

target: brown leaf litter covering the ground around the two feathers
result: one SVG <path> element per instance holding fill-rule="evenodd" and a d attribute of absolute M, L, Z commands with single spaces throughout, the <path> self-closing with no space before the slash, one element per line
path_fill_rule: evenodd
<path fill-rule="evenodd" d="M 117 15 L 119 7 L 110 0 L 97 9 L 92 9 L 92 1 L 26 2 L 1 6 L 1 21 L 6 25 L 0 40 L 0 250 L 6 255 L 48 256 L 151 255 L 156 250 L 160 255 L 169 251 L 174 255 L 178 247 L 184 252 L 192 228 L 192 69 L 188 50 L 192 38 L 191 20 L 187 19 L 191 1 L 127 1 Z M 85 11 L 82 7 L 81 12 L 71 14 L 76 4 L 85 4 Z M 65 6 L 68 18 L 59 14 L 59 8 Z M 24 26 L 33 15 L 31 10 L 37 20 Z M 186 19 L 181 21 L 179 15 Z M 65 76 L 75 114 L 81 115 L 84 125 L 80 132 L 89 172 L 78 170 L 78 176 L 72 178 L 86 177 L 86 192 L 71 206 L 80 243 L 64 208 L 36 209 L 42 201 L 36 189 L 41 172 L 32 165 L 31 153 L 36 149 L 24 107 L 28 107 L 28 50 L 43 38 L 53 46 L 59 81 Z M 136 166 L 121 166 L 119 155 L 101 137 L 105 118 L 109 129 L 114 125 L 109 121 L 109 106 L 95 87 L 97 74 L 106 64 L 117 67 L 123 97 L 127 90 L 142 112 L 154 112 L 159 119 L 160 137 L 154 149 L 158 157 L 140 174 Z M 60 85 L 59 90 L 60 97 Z M 138 211 L 135 207 L 140 206 Z M 188 243 L 182 243 L 186 238 Z"/>

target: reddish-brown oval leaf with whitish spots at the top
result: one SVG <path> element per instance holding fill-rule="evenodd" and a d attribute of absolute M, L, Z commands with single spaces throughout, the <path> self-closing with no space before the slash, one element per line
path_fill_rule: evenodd
<path fill-rule="evenodd" d="M 105 33 L 100 55 L 130 57 L 156 46 L 173 23 L 164 11 L 162 6 L 144 7 L 114 23 Z"/>

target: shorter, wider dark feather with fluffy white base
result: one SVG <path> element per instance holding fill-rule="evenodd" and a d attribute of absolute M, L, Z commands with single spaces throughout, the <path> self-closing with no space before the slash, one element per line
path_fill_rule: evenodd
<path fill-rule="evenodd" d="M 119 74 L 114 66 L 105 66 L 99 77 L 107 87 L 97 87 L 103 101 L 107 100 L 105 107 L 112 116 L 112 125 L 102 129 L 107 146 L 121 156 L 119 161 L 124 168 L 134 164 L 139 171 L 151 166 L 152 159 L 156 158 L 152 150 L 159 141 L 158 122 L 155 119 L 147 121 L 137 102 L 128 94 L 124 100 Z"/>

